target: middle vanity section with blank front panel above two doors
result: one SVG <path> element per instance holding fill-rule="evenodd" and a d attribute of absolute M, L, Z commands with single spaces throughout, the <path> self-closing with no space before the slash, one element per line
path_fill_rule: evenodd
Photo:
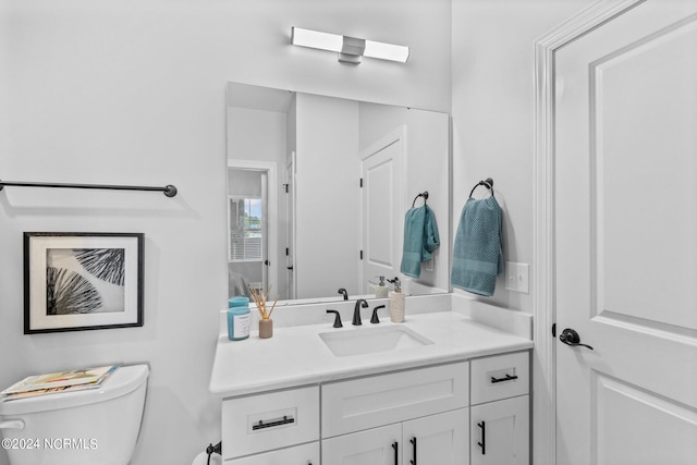
<path fill-rule="evenodd" d="M 327 383 L 322 463 L 466 465 L 469 364 Z"/>

